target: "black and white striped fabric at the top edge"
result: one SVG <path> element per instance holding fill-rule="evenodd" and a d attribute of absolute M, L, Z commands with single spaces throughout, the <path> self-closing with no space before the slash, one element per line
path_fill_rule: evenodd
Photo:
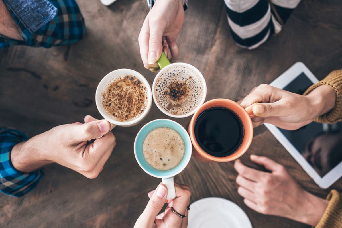
<path fill-rule="evenodd" d="M 237 45 L 254 49 L 279 33 L 300 0 L 224 0 Z"/>

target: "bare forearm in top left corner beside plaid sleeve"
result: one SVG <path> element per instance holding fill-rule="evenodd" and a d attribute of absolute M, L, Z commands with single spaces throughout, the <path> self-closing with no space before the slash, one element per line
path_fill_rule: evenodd
<path fill-rule="evenodd" d="M 0 0 L 0 34 L 15 40 L 23 40 L 18 26 L 2 0 Z"/>

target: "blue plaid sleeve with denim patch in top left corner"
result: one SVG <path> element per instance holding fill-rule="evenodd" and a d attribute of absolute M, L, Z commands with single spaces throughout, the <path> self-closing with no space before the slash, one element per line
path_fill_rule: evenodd
<path fill-rule="evenodd" d="M 44 4 L 51 4 L 52 8 L 46 9 L 47 11 L 43 13 L 38 12 L 46 18 L 45 22 L 42 21 L 40 23 L 37 21 L 39 15 L 36 15 L 36 11 L 38 10 L 34 10 L 35 8 L 31 7 L 27 9 L 31 9 L 32 11 L 25 12 L 25 10 L 22 9 L 25 5 L 20 5 L 17 1 L 23 0 L 4 0 L 12 13 L 15 23 L 18 25 L 19 32 L 24 41 L 14 40 L 0 35 L 0 48 L 8 48 L 14 45 L 51 48 L 52 46 L 57 45 L 73 44 L 83 38 L 86 28 L 84 19 L 75 0 L 44 0 Z M 31 0 L 29 1 L 29 4 L 33 4 L 32 2 L 39 4 L 39 2 L 37 3 L 37 0 Z M 42 1 L 40 1 L 40 3 L 43 4 Z M 41 7 L 42 9 L 47 8 L 46 5 L 45 8 L 43 5 L 41 5 Z M 27 15 L 25 16 L 25 14 L 28 13 L 31 13 L 32 17 L 36 16 L 35 18 L 37 18 L 37 20 L 32 18 L 28 20 L 27 18 L 29 17 Z M 48 21 L 51 15 L 55 16 Z M 38 30 L 34 29 L 36 31 L 33 32 L 32 28 Z"/>

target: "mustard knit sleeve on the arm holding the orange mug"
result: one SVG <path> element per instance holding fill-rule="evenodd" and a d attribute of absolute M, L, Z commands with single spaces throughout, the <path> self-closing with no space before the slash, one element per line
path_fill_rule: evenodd
<path fill-rule="evenodd" d="M 320 85 L 328 85 L 336 93 L 336 104 L 333 109 L 319 116 L 315 121 L 319 123 L 336 123 L 342 120 L 342 69 L 334 70 L 329 75 L 312 86 L 310 86 L 303 95 L 307 95 Z"/>

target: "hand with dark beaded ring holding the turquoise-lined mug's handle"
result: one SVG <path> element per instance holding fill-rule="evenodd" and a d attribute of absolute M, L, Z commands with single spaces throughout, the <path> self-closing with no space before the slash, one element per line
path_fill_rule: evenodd
<path fill-rule="evenodd" d="M 144 212 L 136 220 L 134 228 L 186 228 L 188 226 L 188 211 L 187 206 L 190 202 L 190 190 L 189 187 L 182 184 L 174 183 L 176 190 L 176 198 L 173 200 L 167 200 L 168 195 L 167 187 L 163 184 L 159 184 L 156 190 L 148 193 L 150 200 Z M 165 212 L 158 215 L 164 204 L 167 203 L 168 207 Z M 173 209 L 185 215 L 185 218 L 181 218 L 171 211 Z"/>

